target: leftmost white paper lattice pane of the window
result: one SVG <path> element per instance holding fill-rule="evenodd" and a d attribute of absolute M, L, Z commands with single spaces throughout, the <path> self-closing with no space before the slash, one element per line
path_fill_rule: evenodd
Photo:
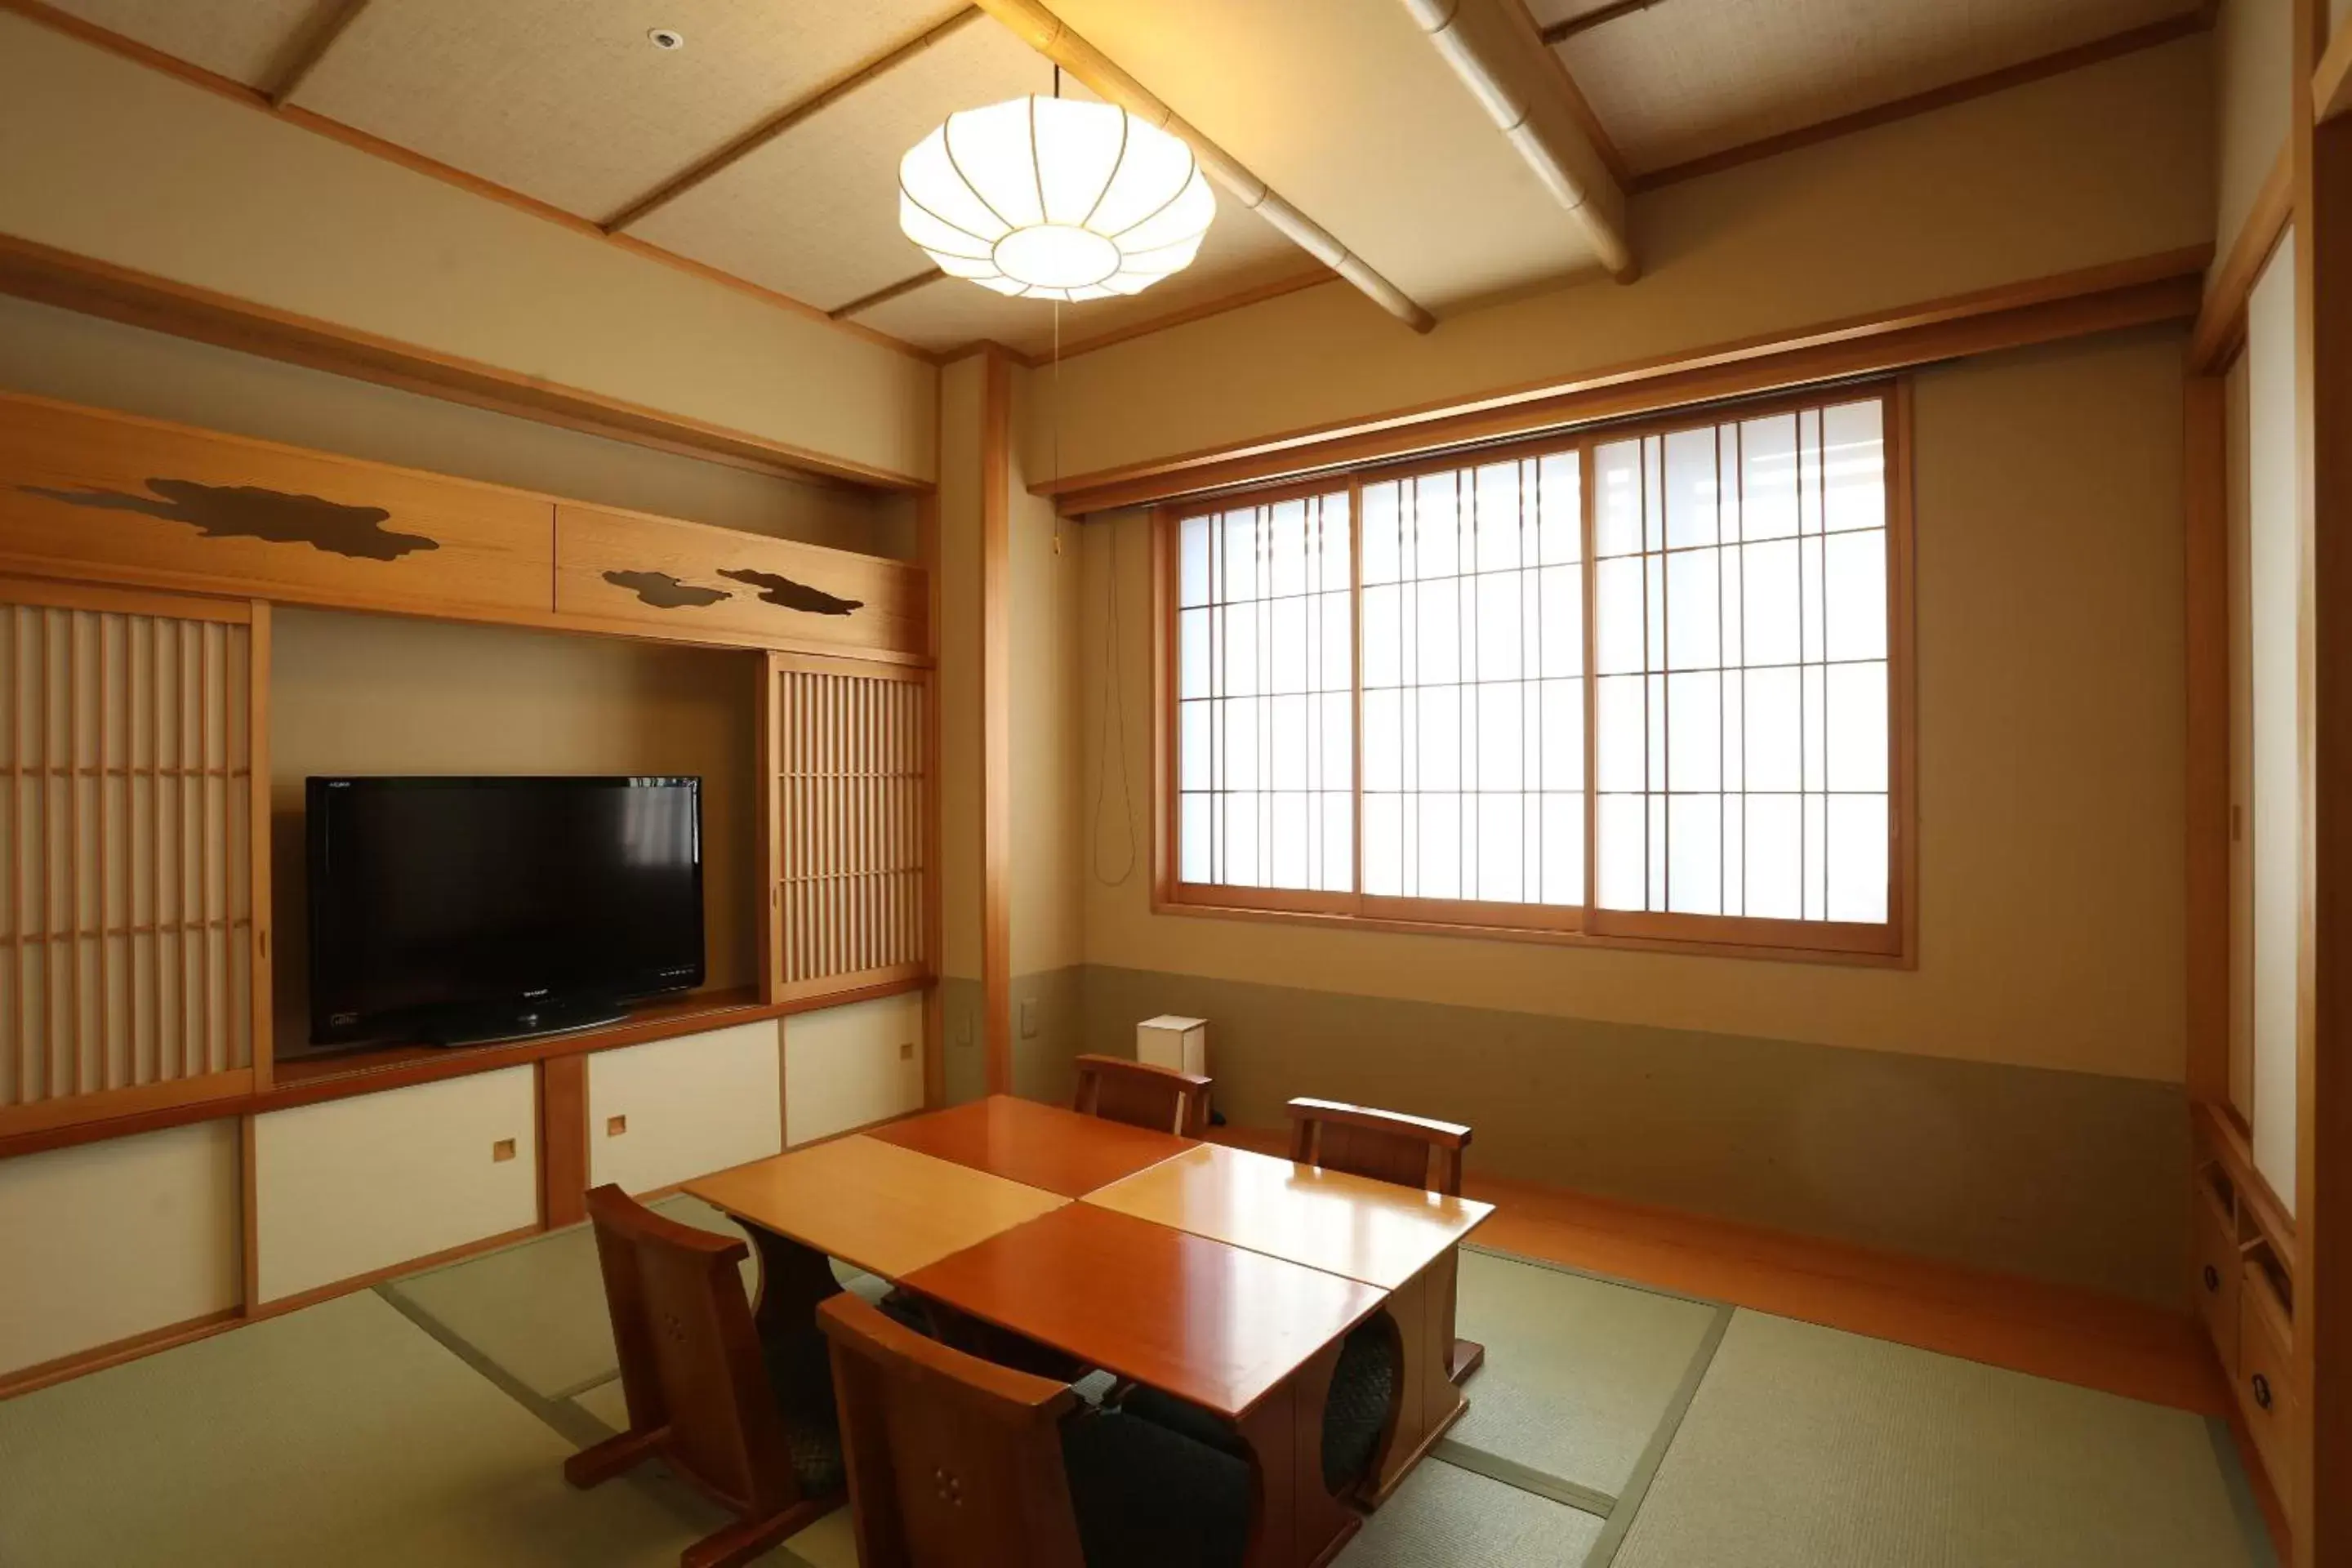
<path fill-rule="evenodd" d="M 1348 491 L 1176 527 L 1178 877 L 1355 889 Z"/>

